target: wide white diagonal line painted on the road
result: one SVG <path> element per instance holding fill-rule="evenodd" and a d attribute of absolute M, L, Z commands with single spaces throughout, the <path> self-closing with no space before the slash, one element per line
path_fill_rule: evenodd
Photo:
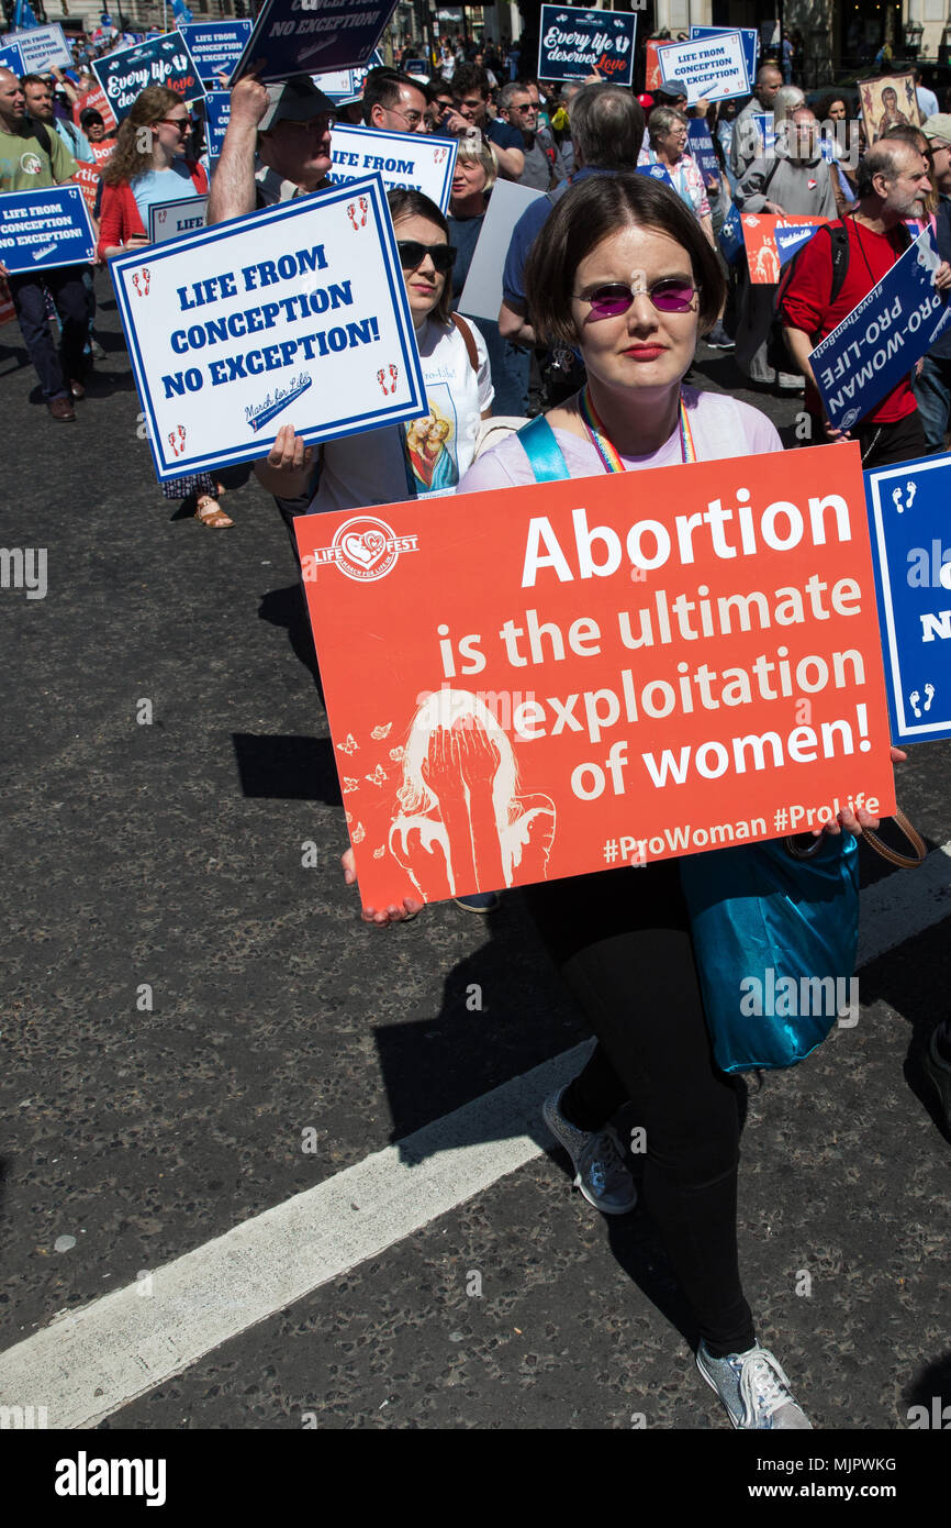
<path fill-rule="evenodd" d="M 949 882 L 951 840 L 862 892 L 859 966 L 949 914 Z M 550 1140 L 540 1103 L 589 1050 L 563 1051 L 157 1268 L 151 1293 L 131 1284 L 58 1317 L 0 1354 L 0 1403 L 46 1406 L 55 1429 L 93 1427 L 539 1157 Z"/>

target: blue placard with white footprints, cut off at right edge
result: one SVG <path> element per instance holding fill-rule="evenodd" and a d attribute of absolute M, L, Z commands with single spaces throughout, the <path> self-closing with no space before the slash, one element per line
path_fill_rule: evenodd
<path fill-rule="evenodd" d="M 866 472 L 893 743 L 951 738 L 951 457 Z"/>

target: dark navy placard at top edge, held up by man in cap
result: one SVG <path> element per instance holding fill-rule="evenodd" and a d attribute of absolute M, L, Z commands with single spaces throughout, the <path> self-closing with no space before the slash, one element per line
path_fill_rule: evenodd
<path fill-rule="evenodd" d="M 359 69 L 380 41 L 395 0 L 264 0 L 230 83 Z"/>

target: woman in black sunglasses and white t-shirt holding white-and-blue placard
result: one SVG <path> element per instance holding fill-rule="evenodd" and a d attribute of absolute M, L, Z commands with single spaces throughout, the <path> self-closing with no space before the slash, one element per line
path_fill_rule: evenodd
<path fill-rule="evenodd" d="M 452 313 L 455 249 L 435 202 L 418 191 L 386 197 L 426 384 L 427 416 L 304 449 L 293 425 L 278 431 L 255 472 L 278 500 L 304 500 L 308 513 L 365 509 L 452 494 L 475 454 L 479 422 L 492 413 L 492 376 L 475 324 Z M 395 390 L 389 367 L 380 391 Z M 314 481 L 316 478 L 316 481 Z"/>

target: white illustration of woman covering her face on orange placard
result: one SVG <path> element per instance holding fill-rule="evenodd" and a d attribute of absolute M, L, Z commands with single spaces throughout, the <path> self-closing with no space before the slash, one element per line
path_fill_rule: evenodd
<path fill-rule="evenodd" d="M 426 902 L 545 880 L 550 796 L 519 795 L 511 741 L 485 703 L 440 689 L 418 707 L 403 753 L 389 851 Z"/>

